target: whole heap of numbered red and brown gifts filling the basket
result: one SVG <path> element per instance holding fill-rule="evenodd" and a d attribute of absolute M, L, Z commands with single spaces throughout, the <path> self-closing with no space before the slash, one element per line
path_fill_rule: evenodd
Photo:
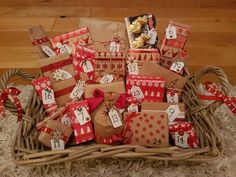
<path fill-rule="evenodd" d="M 47 113 L 39 141 L 52 150 L 88 142 L 197 148 L 180 99 L 190 27 L 170 21 L 160 49 L 156 29 L 152 14 L 84 18 L 54 37 L 30 28 L 42 72 L 32 84 Z"/>

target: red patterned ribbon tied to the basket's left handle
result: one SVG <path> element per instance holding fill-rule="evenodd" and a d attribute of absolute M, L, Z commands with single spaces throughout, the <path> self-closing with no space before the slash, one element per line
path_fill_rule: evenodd
<path fill-rule="evenodd" d="M 11 96 L 17 108 L 17 113 L 18 113 L 17 121 L 22 120 L 23 109 L 20 104 L 20 100 L 17 97 L 17 95 L 19 95 L 20 93 L 21 91 L 15 87 L 10 87 L 2 91 L 1 96 L 0 96 L 0 114 L 2 116 L 6 116 L 5 111 L 4 111 L 4 103 L 7 101 L 8 96 Z"/>

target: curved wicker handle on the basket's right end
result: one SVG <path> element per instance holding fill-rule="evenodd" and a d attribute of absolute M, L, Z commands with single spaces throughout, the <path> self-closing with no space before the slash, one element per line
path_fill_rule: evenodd
<path fill-rule="evenodd" d="M 216 66 L 204 66 L 202 67 L 198 72 L 196 72 L 192 79 L 192 82 L 194 85 L 197 85 L 199 80 L 206 74 L 212 73 L 217 76 L 220 86 L 221 86 L 221 91 L 223 92 L 224 95 L 228 96 L 229 95 L 229 80 L 225 74 L 225 72 Z M 222 104 L 222 101 L 214 101 L 212 104 L 210 104 L 210 108 L 215 110 L 218 106 Z"/>

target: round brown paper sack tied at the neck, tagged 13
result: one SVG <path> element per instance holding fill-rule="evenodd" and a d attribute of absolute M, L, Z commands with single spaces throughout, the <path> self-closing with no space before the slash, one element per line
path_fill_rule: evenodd
<path fill-rule="evenodd" d="M 104 105 L 94 116 L 96 141 L 101 144 L 118 143 L 123 130 L 123 116 L 115 106 L 119 100 L 118 93 L 104 93 Z"/>

